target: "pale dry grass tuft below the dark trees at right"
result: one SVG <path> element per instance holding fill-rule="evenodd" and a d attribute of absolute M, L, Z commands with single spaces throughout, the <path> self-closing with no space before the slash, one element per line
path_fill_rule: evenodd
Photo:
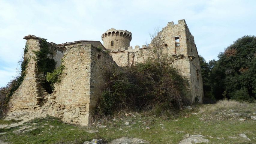
<path fill-rule="evenodd" d="M 205 112 L 206 113 L 214 113 L 220 110 L 230 110 L 230 109 L 246 109 L 248 107 L 247 103 L 240 103 L 234 100 L 221 100 L 218 103 L 207 107 Z"/>

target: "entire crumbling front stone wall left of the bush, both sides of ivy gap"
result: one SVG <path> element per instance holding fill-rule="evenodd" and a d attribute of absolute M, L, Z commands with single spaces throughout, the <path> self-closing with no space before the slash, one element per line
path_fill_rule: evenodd
<path fill-rule="evenodd" d="M 88 125 L 107 81 L 108 65 L 115 64 L 113 58 L 92 44 L 59 46 L 49 43 L 48 58 L 62 59 L 65 69 L 62 81 L 55 83 L 53 93 L 48 94 L 41 86 L 43 79 L 33 59 L 32 51 L 40 49 L 40 40 L 29 38 L 27 44 L 29 49 L 25 56 L 30 58 L 29 67 L 22 85 L 11 97 L 7 115 L 56 116 L 65 122 Z"/>

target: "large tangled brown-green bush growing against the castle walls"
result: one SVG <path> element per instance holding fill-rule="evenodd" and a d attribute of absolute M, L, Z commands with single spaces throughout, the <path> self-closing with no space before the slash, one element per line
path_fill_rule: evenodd
<path fill-rule="evenodd" d="M 169 65 L 154 61 L 133 67 L 112 66 L 109 81 L 97 105 L 99 115 L 120 110 L 150 109 L 161 115 L 183 109 L 187 96 L 187 80 Z"/>

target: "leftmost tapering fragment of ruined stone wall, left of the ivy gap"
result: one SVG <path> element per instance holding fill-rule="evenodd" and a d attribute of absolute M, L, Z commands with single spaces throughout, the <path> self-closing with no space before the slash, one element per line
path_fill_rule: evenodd
<path fill-rule="evenodd" d="M 33 59 L 35 56 L 32 50 L 39 50 L 39 39 L 28 39 L 28 52 L 25 57 L 29 58 L 28 67 L 26 68 L 26 76 L 20 87 L 14 92 L 9 101 L 9 112 L 14 110 L 20 111 L 24 109 L 34 110 L 40 104 L 40 83 L 38 82 L 38 70 L 36 61 Z"/>

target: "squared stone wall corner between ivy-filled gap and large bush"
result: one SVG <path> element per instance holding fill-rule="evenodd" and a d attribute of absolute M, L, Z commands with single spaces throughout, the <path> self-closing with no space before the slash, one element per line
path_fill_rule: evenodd
<path fill-rule="evenodd" d="M 65 46 L 65 70 L 60 83 L 48 98 L 53 104 L 53 115 L 65 122 L 88 125 L 98 95 L 107 81 L 107 64 L 114 63 L 106 53 L 91 44 Z"/>

